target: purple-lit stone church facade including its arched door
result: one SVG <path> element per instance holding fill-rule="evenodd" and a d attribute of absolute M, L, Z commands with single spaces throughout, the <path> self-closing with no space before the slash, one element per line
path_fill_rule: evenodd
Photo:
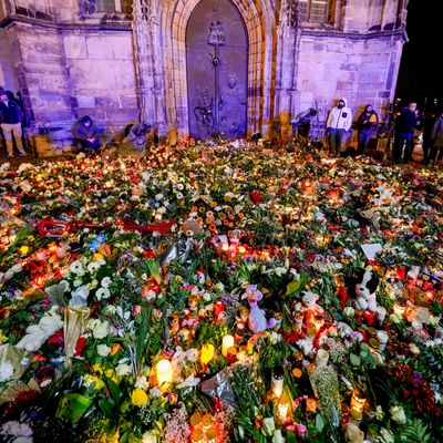
<path fill-rule="evenodd" d="M 267 133 L 393 99 L 408 0 L 0 0 L 0 85 L 31 127 Z M 244 125 L 235 126 L 233 115 Z M 225 125 L 225 126 L 224 126 Z M 209 127 L 210 126 L 210 127 Z M 171 135 L 175 136 L 175 135 Z"/>

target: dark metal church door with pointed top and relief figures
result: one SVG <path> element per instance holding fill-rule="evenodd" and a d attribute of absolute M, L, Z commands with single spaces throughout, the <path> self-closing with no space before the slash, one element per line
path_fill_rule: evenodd
<path fill-rule="evenodd" d="M 230 0 L 196 6 L 186 29 L 186 64 L 190 136 L 245 136 L 248 37 Z"/>

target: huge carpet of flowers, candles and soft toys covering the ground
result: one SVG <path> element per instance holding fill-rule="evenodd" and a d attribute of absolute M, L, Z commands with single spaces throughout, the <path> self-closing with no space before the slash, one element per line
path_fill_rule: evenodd
<path fill-rule="evenodd" d="M 441 172 L 186 141 L 0 196 L 4 441 L 441 441 Z"/>

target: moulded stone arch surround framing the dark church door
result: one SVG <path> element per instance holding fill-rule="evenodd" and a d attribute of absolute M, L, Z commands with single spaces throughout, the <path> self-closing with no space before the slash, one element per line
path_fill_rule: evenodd
<path fill-rule="evenodd" d="M 164 43 L 166 119 L 169 128 L 189 134 L 186 29 L 199 0 L 158 0 L 158 3 L 157 29 L 164 30 L 161 40 Z M 271 109 L 276 12 L 272 0 L 231 0 L 231 3 L 241 14 L 249 42 L 247 132 L 266 132 Z"/>

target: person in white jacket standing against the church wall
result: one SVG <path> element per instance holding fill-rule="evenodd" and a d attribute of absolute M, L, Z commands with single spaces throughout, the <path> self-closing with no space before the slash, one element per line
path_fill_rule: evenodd
<path fill-rule="evenodd" d="M 344 133 L 351 128 L 352 111 L 347 106 L 346 99 L 340 99 L 337 106 L 329 111 L 326 130 L 329 141 L 329 154 L 339 156 Z"/>

